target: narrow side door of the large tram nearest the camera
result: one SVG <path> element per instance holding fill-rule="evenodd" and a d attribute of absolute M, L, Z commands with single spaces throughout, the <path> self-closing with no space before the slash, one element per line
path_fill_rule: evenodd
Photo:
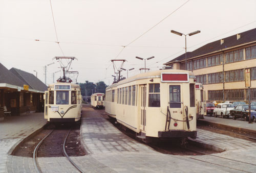
<path fill-rule="evenodd" d="M 140 85 L 140 129 L 146 126 L 146 84 Z"/>

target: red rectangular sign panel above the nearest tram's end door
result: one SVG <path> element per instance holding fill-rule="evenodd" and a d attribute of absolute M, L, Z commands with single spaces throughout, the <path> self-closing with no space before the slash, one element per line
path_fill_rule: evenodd
<path fill-rule="evenodd" d="M 189 75 L 187 72 L 163 72 L 161 82 L 189 82 Z"/>

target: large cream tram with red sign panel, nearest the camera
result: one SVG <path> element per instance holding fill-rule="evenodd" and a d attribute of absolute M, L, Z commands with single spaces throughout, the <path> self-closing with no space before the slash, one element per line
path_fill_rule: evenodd
<path fill-rule="evenodd" d="M 115 93 L 116 120 L 138 138 L 196 138 L 195 81 L 190 71 L 158 70 L 122 80 L 107 91 Z M 105 110 L 110 105 L 106 102 Z"/>

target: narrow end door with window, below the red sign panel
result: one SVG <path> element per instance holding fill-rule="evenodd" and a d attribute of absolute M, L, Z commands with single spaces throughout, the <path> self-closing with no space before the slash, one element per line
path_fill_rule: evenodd
<path fill-rule="evenodd" d="M 181 85 L 169 85 L 169 111 L 170 116 L 174 119 L 185 120 L 185 110 L 183 109 L 183 97 L 182 97 L 182 86 Z M 187 99 L 187 98 L 186 98 Z M 184 123 L 177 121 L 178 125 L 175 129 L 184 130 Z M 174 123 L 171 120 L 170 128 Z"/>

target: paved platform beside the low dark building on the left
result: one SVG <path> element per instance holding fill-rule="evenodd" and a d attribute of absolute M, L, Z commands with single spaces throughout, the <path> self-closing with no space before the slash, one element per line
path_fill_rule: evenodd
<path fill-rule="evenodd" d="M 11 116 L 0 121 L 0 172 L 7 171 L 6 163 L 10 149 L 46 122 L 44 113 Z"/>

